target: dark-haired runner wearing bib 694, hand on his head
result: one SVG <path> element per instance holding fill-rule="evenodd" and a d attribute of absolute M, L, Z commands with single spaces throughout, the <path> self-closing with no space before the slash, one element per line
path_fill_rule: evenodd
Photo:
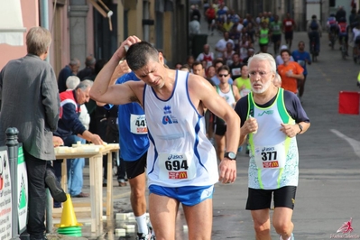
<path fill-rule="evenodd" d="M 125 45 L 130 46 L 125 52 Z M 142 81 L 108 87 L 119 63 L 127 63 Z M 240 137 L 238 115 L 202 77 L 167 69 L 161 52 L 131 36 L 97 75 L 90 95 L 99 102 L 140 103 L 150 138 L 147 158 L 149 213 L 157 239 L 175 239 L 180 203 L 189 239 L 211 239 L 214 184 L 234 182 Z M 204 106 L 226 121 L 226 154 L 217 171 L 214 147 L 205 131 Z"/>

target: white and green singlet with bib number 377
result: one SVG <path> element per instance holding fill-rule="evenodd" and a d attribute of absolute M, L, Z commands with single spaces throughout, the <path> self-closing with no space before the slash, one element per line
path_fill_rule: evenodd
<path fill-rule="evenodd" d="M 247 115 L 256 118 L 258 124 L 257 133 L 249 134 L 249 188 L 298 186 L 299 152 L 296 137 L 290 138 L 280 131 L 282 123 L 295 124 L 285 108 L 283 89 L 279 88 L 272 106 L 256 106 L 253 93 L 248 95 L 248 103 Z"/>

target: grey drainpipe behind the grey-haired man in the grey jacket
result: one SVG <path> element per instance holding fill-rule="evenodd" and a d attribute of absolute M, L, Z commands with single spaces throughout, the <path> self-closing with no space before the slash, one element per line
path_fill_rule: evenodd
<path fill-rule="evenodd" d="M 49 0 L 41 0 L 40 2 L 40 11 L 41 18 L 40 24 L 43 28 L 49 30 Z M 50 62 L 50 54 L 45 61 Z M 52 198 L 49 189 L 46 190 L 46 196 L 48 200 L 46 201 L 46 232 L 52 232 Z"/>

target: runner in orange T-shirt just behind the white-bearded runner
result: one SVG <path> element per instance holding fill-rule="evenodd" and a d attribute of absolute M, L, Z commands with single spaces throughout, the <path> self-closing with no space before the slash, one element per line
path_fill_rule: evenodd
<path fill-rule="evenodd" d="M 280 52 L 283 64 L 278 66 L 278 73 L 282 77 L 282 88 L 291 91 L 294 94 L 298 93 L 298 79 L 303 80 L 304 69 L 296 61 L 291 61 L 291 51 L 285 49 Z"/>

